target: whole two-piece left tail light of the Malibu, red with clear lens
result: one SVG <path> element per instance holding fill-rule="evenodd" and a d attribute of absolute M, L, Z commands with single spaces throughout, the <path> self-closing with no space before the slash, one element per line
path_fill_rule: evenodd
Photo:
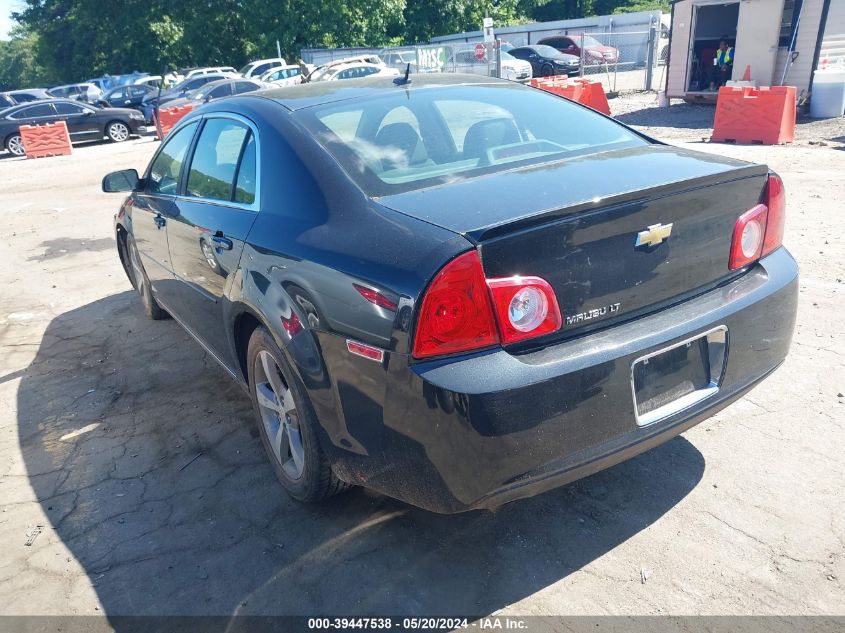
<path fill-rule="evenodd" d="M 428 358 L 514 343 L 560 327 L 554 291 L 539 277 L 485 279 L 478 253 L 449 262 L 422 300 L 413 355 Z"/>

